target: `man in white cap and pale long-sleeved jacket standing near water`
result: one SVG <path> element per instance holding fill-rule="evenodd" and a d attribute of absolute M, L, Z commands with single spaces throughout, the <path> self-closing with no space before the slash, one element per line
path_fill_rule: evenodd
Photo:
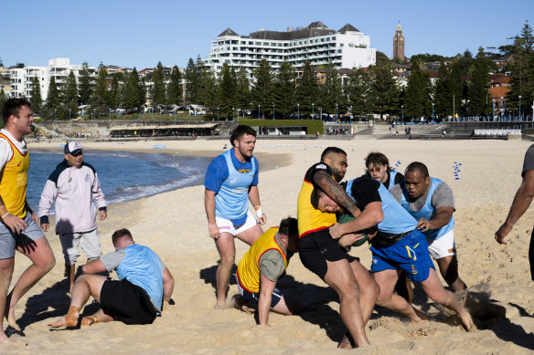
<path fill-rule="evenodd" d="M 45 232 L 50 226 L 48 214 L 56 201 L 56 234 L 65 257 L 65 275 L 69 279 L 69 289 L 74 284 L 76 260 L 81 246 L 88 261 L 102 255 L 100 238 L 96 228 L 96 207 L 101 221 L 107 217 L 107 207 L 101 184 L 94 168 L 83 162 L 83 151 L 78 141 L 65 144 L 65 160 L 48 176 L 41 201 L 39 216 L 41 228 Z"/>

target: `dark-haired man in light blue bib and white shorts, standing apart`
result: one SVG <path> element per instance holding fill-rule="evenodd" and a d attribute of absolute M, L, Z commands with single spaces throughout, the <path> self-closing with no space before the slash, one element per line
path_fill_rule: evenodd
<path fill-rule="evenodd" d="M 252 245 L 263 234 L 259 224 L 267 222 L 258 191 L 259 164 L 252 156 L 256 131 L 240 125 L 232 132 L 230 143 L 233 148 L 209 163 L 204 180 L 208 232 L 220 256 L 215 308 L 226 308 L 231 267 L 235 263 L 234 237 Z M 249 200 L 255 216 L 249 211 Z"/>

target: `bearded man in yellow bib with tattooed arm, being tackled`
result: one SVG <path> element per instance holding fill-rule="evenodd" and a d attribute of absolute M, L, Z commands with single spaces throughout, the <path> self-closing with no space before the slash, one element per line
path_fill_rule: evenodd
<path fill-rule="evenodd" d="M 360 236 L 331 235 L 329 227 L 336 224 L 336 214 L 316 210 L 311 203 L 311 195 L 316 187 L 358 219 L 362 213 L 338 183 L 346 172 L 347 153 L 336 147 L 326 148 L 321 154 L 321 162 L 314 164 L 304 175 L 298 196 L 297 220 L 301 238 L 300 259 L 306 268 L 334 288 L 339 296 L 339 313 L 348 332 L 339 347 L 350 349 L 352 346 L 347 335 L 354 339 L 358 347 L 369 343 L 365 325 L 379 296 L 379 286 L 358 259 L 349 256 L 345 250 Z M 364 217 L 367 218 L 367 215 Z M 372 220 L 368 224 L 378 223 L 379 220 Z"/>

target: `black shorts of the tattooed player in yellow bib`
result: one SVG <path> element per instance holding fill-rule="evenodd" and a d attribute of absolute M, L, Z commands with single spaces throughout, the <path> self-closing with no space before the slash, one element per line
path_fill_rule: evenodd
<path fill-rule="evenodd" d="M 349 256 L 337 241 L 332 239 L 328 229 L 304 235 L 300 240 L 298 255 L 303 265 L 323 281 L 327 270 L 326 260 L 346 259 L 349 263 L 359 260 L 358 257 Z"/>

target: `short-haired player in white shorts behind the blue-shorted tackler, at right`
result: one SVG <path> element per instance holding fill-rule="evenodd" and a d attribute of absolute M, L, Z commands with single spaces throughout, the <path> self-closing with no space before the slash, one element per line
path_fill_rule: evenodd
<path fill-rule="evenodd" d="M 458 276 L 454 244 L 453 190 L 443 181 L 431 178 L 422 162 L 411 162 L 404 176 L 405 183 L 393 187 L 390 193 L 417 220 L 417 229 L 426 236 L 430 254 L 445 282 L 454 291 L 465 289 Z"/>

